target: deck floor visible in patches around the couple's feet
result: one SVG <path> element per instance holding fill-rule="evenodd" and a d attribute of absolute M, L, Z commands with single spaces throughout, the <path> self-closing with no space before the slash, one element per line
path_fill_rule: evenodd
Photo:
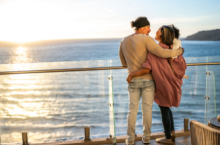
<path fill-rule="evenodd" d="M 110 144 L 102 144 L 102 145 L 110 145 Z M 117 143 L 116 145 L 125 145 L 125 143 Z M 135 142 L 135 145 L 144 145 L 144 144 L 142 143 L 142 141 L 137 141 Z M 163 144 L 157 143 L 155 140 L 151 140 L 150 145 L 163 145 Z M 191 138 L 190 136 L 177 137 L 175 144 L 173 145 L 191 145 Z"/>

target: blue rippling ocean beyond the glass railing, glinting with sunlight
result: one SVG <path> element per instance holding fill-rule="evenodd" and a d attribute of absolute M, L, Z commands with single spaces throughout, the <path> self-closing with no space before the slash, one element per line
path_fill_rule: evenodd
<path fill-rule="evenodd" d="M 0 42 L 0 71 L 120 66 L 121 39 L 56 40 L 5 45 Z M 187 63 L 220 62 L 220 41 L 182 41 Z M 209 72 L 210 75 L 206 75 Z M 173 107 L 175 129 L 183 119 L 207 124 L 220 107 L 220 67 L 188 66 L 181 105 Z M 109 80 L 113 76 L 116 135 L 126 135 L 128 92 L 126 69 L 20 74 L 0 76 L 1 143 L 21 144 L 82 139 L 89 126 L 91 138 L 109 137 Z M 216 87 L 214 87 L 216 86 Z M 214 89 L 215 88 L 215 89 Z M 205 100 L 209 96 L 209 100 Z M 206 102 L 205 102 L 206 101 Z M 205 108 L 206 106 L 206 108 Z M 142 134 L 141 101 L 136 133 Z M 163 131 L 154 103 L 152 132 Z"/>

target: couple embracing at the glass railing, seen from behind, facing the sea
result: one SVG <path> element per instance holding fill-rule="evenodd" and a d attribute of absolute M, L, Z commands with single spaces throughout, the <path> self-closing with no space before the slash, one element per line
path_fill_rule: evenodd
<path fill-rule="evenodd" d="M 155 39 L 148 36 L 150 22 L 139 17 L 131 22 L 135 33 L 125 37 L 120 44 L 121 64 L 128 68 L 129 113 L 127 117 L 127 145 L 135 142 L 135 124 L 139 101 L 142 97 L 142 119 L 144 144 L 150 143 L 152 105 L 155 101 L 161 111 L 165 138 L 156 139 L 159 143 L 172 144 L 175 140 L 172 106 L 179 107 L 182 78 L 186 62 L 179 48 L 179 30 L 173 25 L 158 29 Z"/>

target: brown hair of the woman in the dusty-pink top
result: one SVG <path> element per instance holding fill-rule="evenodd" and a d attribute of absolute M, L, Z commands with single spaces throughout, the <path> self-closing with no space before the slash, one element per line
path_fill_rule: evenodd
<path fill-rule="evenodd" d="M 164 43 L 169 46 L 171 49 L 171 45 L 173 44 L 173 39 L 174 39 L 174 30 L 170 26 L 162 26 L 161 27 L 161 35 L 160 35 L 160 40 L 161 43 Z"/>

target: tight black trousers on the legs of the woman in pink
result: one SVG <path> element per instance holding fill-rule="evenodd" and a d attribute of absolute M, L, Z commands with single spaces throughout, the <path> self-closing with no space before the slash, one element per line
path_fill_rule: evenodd
<path fill-rule="evenodd" d="M 161 118 L 166 139 L 171 139 L 171 131 L 174 131 L 173 114 L 169 107 L 160 106 Z"/>

